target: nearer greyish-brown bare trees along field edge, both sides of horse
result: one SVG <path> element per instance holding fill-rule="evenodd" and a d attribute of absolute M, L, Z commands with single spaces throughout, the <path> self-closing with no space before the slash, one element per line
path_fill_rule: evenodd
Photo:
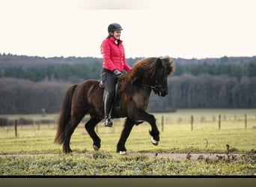
<path fill-rule="evenodd" d="M 173 111 L 177 108 L 256 108 L 256 77 L 183 74 L 168 79 L 165 97 L 151 93 L 148 111 Z M 65 82 L 31 82 L 0 79 L 0 114 L 40 114 L 60 111 L 67 88 Z"/>

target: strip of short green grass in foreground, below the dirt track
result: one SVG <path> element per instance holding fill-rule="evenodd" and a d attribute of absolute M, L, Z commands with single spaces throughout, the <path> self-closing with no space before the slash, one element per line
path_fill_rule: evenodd
<path fill-rule="evenodd" d="M 0 157 L 1 175 L 253 175 L 255 157 L 236 162 L 175 161 L 146 156 L 118 156 L 94 153 L 93 156 Z"/>

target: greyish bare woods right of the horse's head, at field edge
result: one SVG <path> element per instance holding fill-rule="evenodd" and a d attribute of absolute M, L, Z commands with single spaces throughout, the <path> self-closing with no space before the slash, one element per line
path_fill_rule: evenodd
<path fill-rule="evenodd" d="M 256 77 L 193 76 L 183 74 L 168 79 L 169 93 L 164 98 L 152 95 L 149 109 L 175 108 L 255 108 Z"/>

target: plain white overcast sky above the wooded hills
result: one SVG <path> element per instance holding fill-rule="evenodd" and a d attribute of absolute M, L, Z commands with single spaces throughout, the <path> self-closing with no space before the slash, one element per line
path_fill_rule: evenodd
<path fill-rule="evenodd" d="M 0 0 L 0 53 L 101 57 L 109 23 L 127 58 L 256 55 L 255 0 Z"/>

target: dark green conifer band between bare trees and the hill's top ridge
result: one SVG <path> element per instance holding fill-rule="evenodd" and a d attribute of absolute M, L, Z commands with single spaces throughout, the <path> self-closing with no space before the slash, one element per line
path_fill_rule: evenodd
<path fill-rule="evenodd" d="M 64 81 L 79 83 L 86 79 L 100 79 L 102 62 L 94 64 L 58 64 L 43 67 L 7 67 L 1 70 L 1 77 L 27 79 L 32 82 Z M 244 76 L 256 76 L 256 61 L 249 64 L 176 64 L 175 76 L 184 73 L 198 76 L 209 74 L 212 76 L 227 75 L 242 79 Z"/>

